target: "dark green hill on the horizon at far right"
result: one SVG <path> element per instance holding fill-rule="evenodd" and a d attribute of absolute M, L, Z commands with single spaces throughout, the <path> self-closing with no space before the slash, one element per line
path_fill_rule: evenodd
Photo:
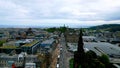
<path fill-rule="evenodd" d="M 99 26 L 90 27 L 92 30 L 108 30 L 111 32 L 120 31 L 120 24 L 103 24 Z"/>

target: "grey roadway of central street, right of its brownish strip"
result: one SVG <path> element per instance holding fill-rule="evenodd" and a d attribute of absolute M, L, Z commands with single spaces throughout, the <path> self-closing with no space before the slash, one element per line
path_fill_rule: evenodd
<path fill-rule="evenodd" d="M 61 44 L 61 49 L 60 49 L 59 68 L 69 68 L 69 59 L 71 58 L 72 54 L 67 51 L 66 41 L 64 36 L 61 37 L 60 44 Z"/>

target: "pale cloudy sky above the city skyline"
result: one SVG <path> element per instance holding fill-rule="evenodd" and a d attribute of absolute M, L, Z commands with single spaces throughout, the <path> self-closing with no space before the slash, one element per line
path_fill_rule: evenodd
<path fill-rule="evenodd" d="M 120 0 L 0 0 L 0 25 L 120 24 Z"/>

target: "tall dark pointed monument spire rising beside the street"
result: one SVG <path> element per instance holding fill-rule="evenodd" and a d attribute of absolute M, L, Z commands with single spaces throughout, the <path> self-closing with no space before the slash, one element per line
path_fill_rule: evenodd
<path fill-rule="evenodd" d="M 83 49 L 83 38 L 82 38 L 82 29 L 80 29 L 79 40 L 78 40 L 78 48 L 77 51 L 74 52 L 74 68 L 79 68 L 79 66 L 84 65 L 85 53 Z"/>

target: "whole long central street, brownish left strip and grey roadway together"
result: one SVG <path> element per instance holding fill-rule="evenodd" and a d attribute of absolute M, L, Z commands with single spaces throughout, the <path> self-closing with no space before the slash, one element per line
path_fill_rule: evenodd
<path fill-rule="evenodd" d="M 53 57 L 50 68 L 69 68 L 69 59 L 73 57 L 73 54 L 67 51 L 64 36 L 60 38 L 60 43 L 55 49 Z"/>

